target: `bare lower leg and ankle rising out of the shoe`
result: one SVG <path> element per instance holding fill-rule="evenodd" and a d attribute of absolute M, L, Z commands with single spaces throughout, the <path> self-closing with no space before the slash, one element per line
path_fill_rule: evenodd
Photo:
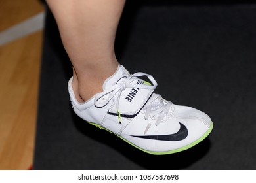
<path fill-rule="evenodd" d="M 125 0 L 47 0 L 72 62 L 72 87 L 83 103 L 98 92 L 118 67 L 114 51 Z"/>

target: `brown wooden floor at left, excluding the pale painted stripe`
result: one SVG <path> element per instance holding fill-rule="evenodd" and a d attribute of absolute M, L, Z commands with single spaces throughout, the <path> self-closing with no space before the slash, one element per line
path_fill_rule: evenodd
<path fill-rule="evenodd" d="M 41 1 L 0 1 L 0 33 L 43 12 Z M 0 169 L 33 166 L 42 33 L 0 47 Z"/>

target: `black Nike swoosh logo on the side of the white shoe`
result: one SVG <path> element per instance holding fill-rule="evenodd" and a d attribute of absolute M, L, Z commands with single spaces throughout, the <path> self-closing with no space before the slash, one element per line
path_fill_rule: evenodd
<path fill-rule="evenodd" d="M 142 139 L 152 139 L 152 140 L 158 140 L 158 141 L 182 141 L 183 139 L 186 139 L 188 136 L 188 129 L 183 125 L 181 122 L 179 122 L 181 125 L 179 131 L 177 133 L 169 134 L 169 135 L 131 135 L 133 137 L 139 137 Z"/>

